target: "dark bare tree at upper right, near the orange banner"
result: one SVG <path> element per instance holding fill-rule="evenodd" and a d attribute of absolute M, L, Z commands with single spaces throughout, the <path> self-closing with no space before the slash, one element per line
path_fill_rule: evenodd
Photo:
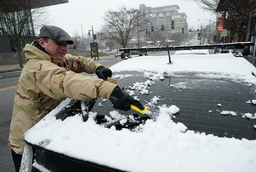
<path fill-rule="evenodd" d="M 203 9 L 212 12 L 218 11 L 227 17 L 226 28 L 236 34 L 237 41 L 240 41 L 243 27 L 248 20 L 250 12 L 256 8 L 255 0 L 193 0 Z M 249 29 L 249 28 L 247 28 Z"/>

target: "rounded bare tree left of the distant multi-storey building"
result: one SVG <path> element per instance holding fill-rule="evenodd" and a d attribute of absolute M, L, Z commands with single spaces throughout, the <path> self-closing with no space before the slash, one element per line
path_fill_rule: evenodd
<path fill-rule="evenodd" d="M 132 30 L 144 23 L 144 16 L 140 11 L 125 6 L 119 7 L 119 11 L 108 10 L 103 17 L 106 24 L 101 27 L 99 34 L 102 39 L 112 39 L 125 48 Z"/>

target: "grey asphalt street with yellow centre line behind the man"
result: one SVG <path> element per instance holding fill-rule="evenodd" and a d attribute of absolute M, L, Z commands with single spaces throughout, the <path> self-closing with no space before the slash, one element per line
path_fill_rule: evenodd
<path fill-rule="evenodd" d="M 100 60 L 98 62 L 109 68 L 119 61 L 122 61 L 122 59 L 116 58 L 115 60 Z M 11 148 L 8 145 L 8 134 L 12 119 L 13 100 L 20 73 L 21 71 L 0 74 L 0 172 L 15 171 L 12 161 Z"/>

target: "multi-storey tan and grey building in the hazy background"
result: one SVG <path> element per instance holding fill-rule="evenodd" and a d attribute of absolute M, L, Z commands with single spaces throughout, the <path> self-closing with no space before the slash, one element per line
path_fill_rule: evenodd
<path fill-rule="evenodd" d="M 174 20 L 174 29 L 172 32 L 180 32 L 184 28 L 184 32 L 188 32 L 187 15 L 184 12 L 179 13 L 178 5 L 166 5 L 160 7 L 147 7 L 145 4 L 140 4 L 140 11 L 147 13 L 146 18 L 154 28 L 171 26 Z M 150 15 L 151 14 L 151 15 Z"/>

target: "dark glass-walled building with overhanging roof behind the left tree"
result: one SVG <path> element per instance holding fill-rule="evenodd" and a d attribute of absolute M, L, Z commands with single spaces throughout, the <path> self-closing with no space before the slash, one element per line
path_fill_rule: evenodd
<path fill-rule="evenodd" d="M 68 3 L 68 0 L 44 0 L 44 1 L 41 1 L 41 0 L 24 0 L 24 4 L 26 4 L 27 2 L 32 4 L 30 9 L 35 9 L 35 8 L 41 8 L 41 7 L 46 7 L 46 6 L 56 5 L 56 4 Z M 10 0 L 10 2 L 8 2 L 8 3 L 9 4 L 15 4 L 15 0 Z M 19 1 L 19 3 L 20 3 L 20 1 Z M 22 3 L 22 1 L 21 1 L 21 3 Z M 11 9 L 13 9 L 12 11 L 10 11 L 11 15 L 13 15 L 15 13 L 16 13 L 16 15 L 22 15 L 23 13 L 26 13 L 27 10 L 30 10 L 30 9 L 25 9 L 24 10 L 24 6 L 22 6 L 20 8 L 15 6 L 15 8 L 13 7 Z M 9 36 L 7 36 L 3 32 L 1 32 L 1 30 L 0 30 L 0 53 L 9 53 L 13 50 L 15 51 L 14 43 L 12 42 L 12 39 L 10 38 L 12 36 L 12 32 L 11 32 L 10 29 L 8 29 L 7 25 L 4 23 L 4 21 L 5 21 L 5 19 L 3 18 L 4 15 L 0 15 L 0 16 L 2 17 L 2 18 L 0 17 L 0 27 L 3 28 L 4 31 L 9 33 L 8 34 Z M 28 20 L 24 24 L 24 29 L 21 33 L 21 40 L 20 40 L 21 41 L 21 49 L 27 43 L 31 43 L 33 40 L 37 39 L 37 36 L 35 35 L 35 32 L 34 32 L 34 25 L 33 25 L 33 21 L 32 21 L 32 16 L 31 15 L 26 16 L 26 18 Z"/>

